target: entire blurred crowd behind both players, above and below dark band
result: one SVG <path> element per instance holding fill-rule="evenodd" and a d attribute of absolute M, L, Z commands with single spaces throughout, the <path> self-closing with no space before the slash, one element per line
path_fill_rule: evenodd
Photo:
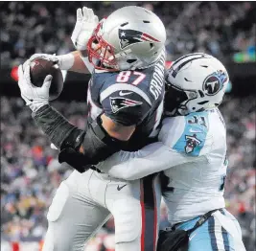
<path fill-rule="evenodd" d="M 206 52 L 220 59 L 255 60 L 256 2 L 128 2 L 155 11 L 167 27 L 168 59 Z M 65 54 L 76 10 L 93 8 L 100 18 L 123 2 L 5 2 L 0 4 L 1 68 L 10 68 L 35 53 Z M 256 23 L 256 21 L 254 21 Z M 243 83 L 242 83 L 243 84 Z M 238 218 L 247 251 L 255 250 L 255 98 L 228 94 L 221 104 L 227 126 L 229 169 L 225 182 L 227 209 Z M 73 125 L 86 122 L 86 104 L 54 102 Z M 40 241 L 46 213 L 60 182 L 72 171 L 59 165 L 58 152 L 35 126 L 20 98 L 1 97 L 1 240 Z M 167 223 L 166 207 L 161 207 Z M 110 219 L 85 250 L 113 251 Z M 7 249 L 8 250 L 8 249 Z M 32 249 L 26 249 L 32 250 Z"/>

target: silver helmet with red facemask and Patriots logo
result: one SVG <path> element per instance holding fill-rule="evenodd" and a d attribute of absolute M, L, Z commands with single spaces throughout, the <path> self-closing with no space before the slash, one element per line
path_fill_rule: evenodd
<path fill-rule="evenodd" d="M 165 41 L 165 27 L 156 14 L 128 6 L 98 24 L 87 43 L 88 58 L 96 69 L 147 68 L 160 57 Z"/>

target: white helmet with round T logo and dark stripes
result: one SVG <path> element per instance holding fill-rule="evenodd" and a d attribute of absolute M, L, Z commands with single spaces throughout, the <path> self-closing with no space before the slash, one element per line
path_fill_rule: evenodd
<path fill-rule="evenodd" d="M 225 67 L 215 57 L 195 53 L 178 58 L 166 77 L 166 114 L 187 115 L 217 107 L 228 81 Z"/>

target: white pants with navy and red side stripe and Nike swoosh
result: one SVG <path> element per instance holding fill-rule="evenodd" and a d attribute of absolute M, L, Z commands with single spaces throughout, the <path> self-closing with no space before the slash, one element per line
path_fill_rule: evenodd
<path fill-rule="evenodd" d="M 157 175 L 124 181 L 105 173 L 73 171 L 47 215 L 43 251 L 81 251 L 112 215 L 116 251 L 155 251 L 161 192 Z"/>

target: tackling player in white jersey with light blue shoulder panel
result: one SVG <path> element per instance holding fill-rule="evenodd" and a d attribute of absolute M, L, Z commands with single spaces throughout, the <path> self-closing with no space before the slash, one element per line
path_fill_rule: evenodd
<path fill-rule="evenodd" d="M 117 152 L 97 167 L 128 181 L 163 171 L 162 195 L 174 231 L 189 230 L 216 210 L 190 235 L 189 251 L 243 251 L 240 225 L 224 209 L 228 161 L 218 105 L 229 80 L 227 71 L 215 57 L 191 54 L 174 62 L 166 80 L 159 142 Z"/>

